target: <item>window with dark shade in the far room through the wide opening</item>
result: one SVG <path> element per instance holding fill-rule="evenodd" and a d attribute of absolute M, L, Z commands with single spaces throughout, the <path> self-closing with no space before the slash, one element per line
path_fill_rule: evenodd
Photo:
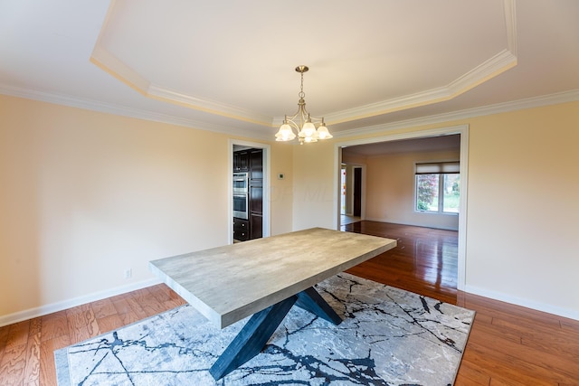
<path fill-rule="evenodd" d="M 460 164 L 416 164 L 416 204 L 419 212 L 458 213 Z"/>

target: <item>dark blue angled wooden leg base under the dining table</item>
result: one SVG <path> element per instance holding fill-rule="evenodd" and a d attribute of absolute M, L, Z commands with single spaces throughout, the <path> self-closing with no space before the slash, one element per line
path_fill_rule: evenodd
<path fill-rule="evenodd" d="M 342 321 L 326 300 L 309 287 L 253 315 L 209 369 L 214 379 L 221 379 L 260 353 L 294 304 L 334 325 Z"/>

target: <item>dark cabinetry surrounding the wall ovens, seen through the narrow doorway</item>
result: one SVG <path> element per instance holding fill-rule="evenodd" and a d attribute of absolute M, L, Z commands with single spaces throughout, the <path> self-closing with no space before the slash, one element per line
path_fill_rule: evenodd
<path fill-rule="evenodd" d="M 248 220 L 233 218 L 233 239 L 260 239 L 263 236 L 263 149 L 233 152 L 233 172 L 247 172 L 249 177 Z"/>

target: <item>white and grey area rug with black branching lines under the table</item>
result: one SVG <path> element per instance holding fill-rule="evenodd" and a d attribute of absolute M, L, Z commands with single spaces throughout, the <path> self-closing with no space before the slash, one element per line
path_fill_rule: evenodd
<path fill-rule="evenodd" d="M 59 385 L 451 385 L 474 311 L 339 274 L 316 286 L 344 321 L 292 307 L 264 349 L 214 381 L 248 319 L 223 330 L 180 306 L 55 352 Z"/>

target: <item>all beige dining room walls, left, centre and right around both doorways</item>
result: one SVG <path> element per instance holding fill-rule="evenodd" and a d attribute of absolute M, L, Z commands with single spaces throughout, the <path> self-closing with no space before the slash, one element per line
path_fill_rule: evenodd
<path fill-rule="evenodd" d="M 373 136 L 460 124 L 466 289 L 579 319 L 579 102 Z M 0 322 L 146 283 L 150 259 L 227 243 L 228 141 L 0 96 Z M 335 228 L 336 142 L 271 144 L 271 234 Z"/>

